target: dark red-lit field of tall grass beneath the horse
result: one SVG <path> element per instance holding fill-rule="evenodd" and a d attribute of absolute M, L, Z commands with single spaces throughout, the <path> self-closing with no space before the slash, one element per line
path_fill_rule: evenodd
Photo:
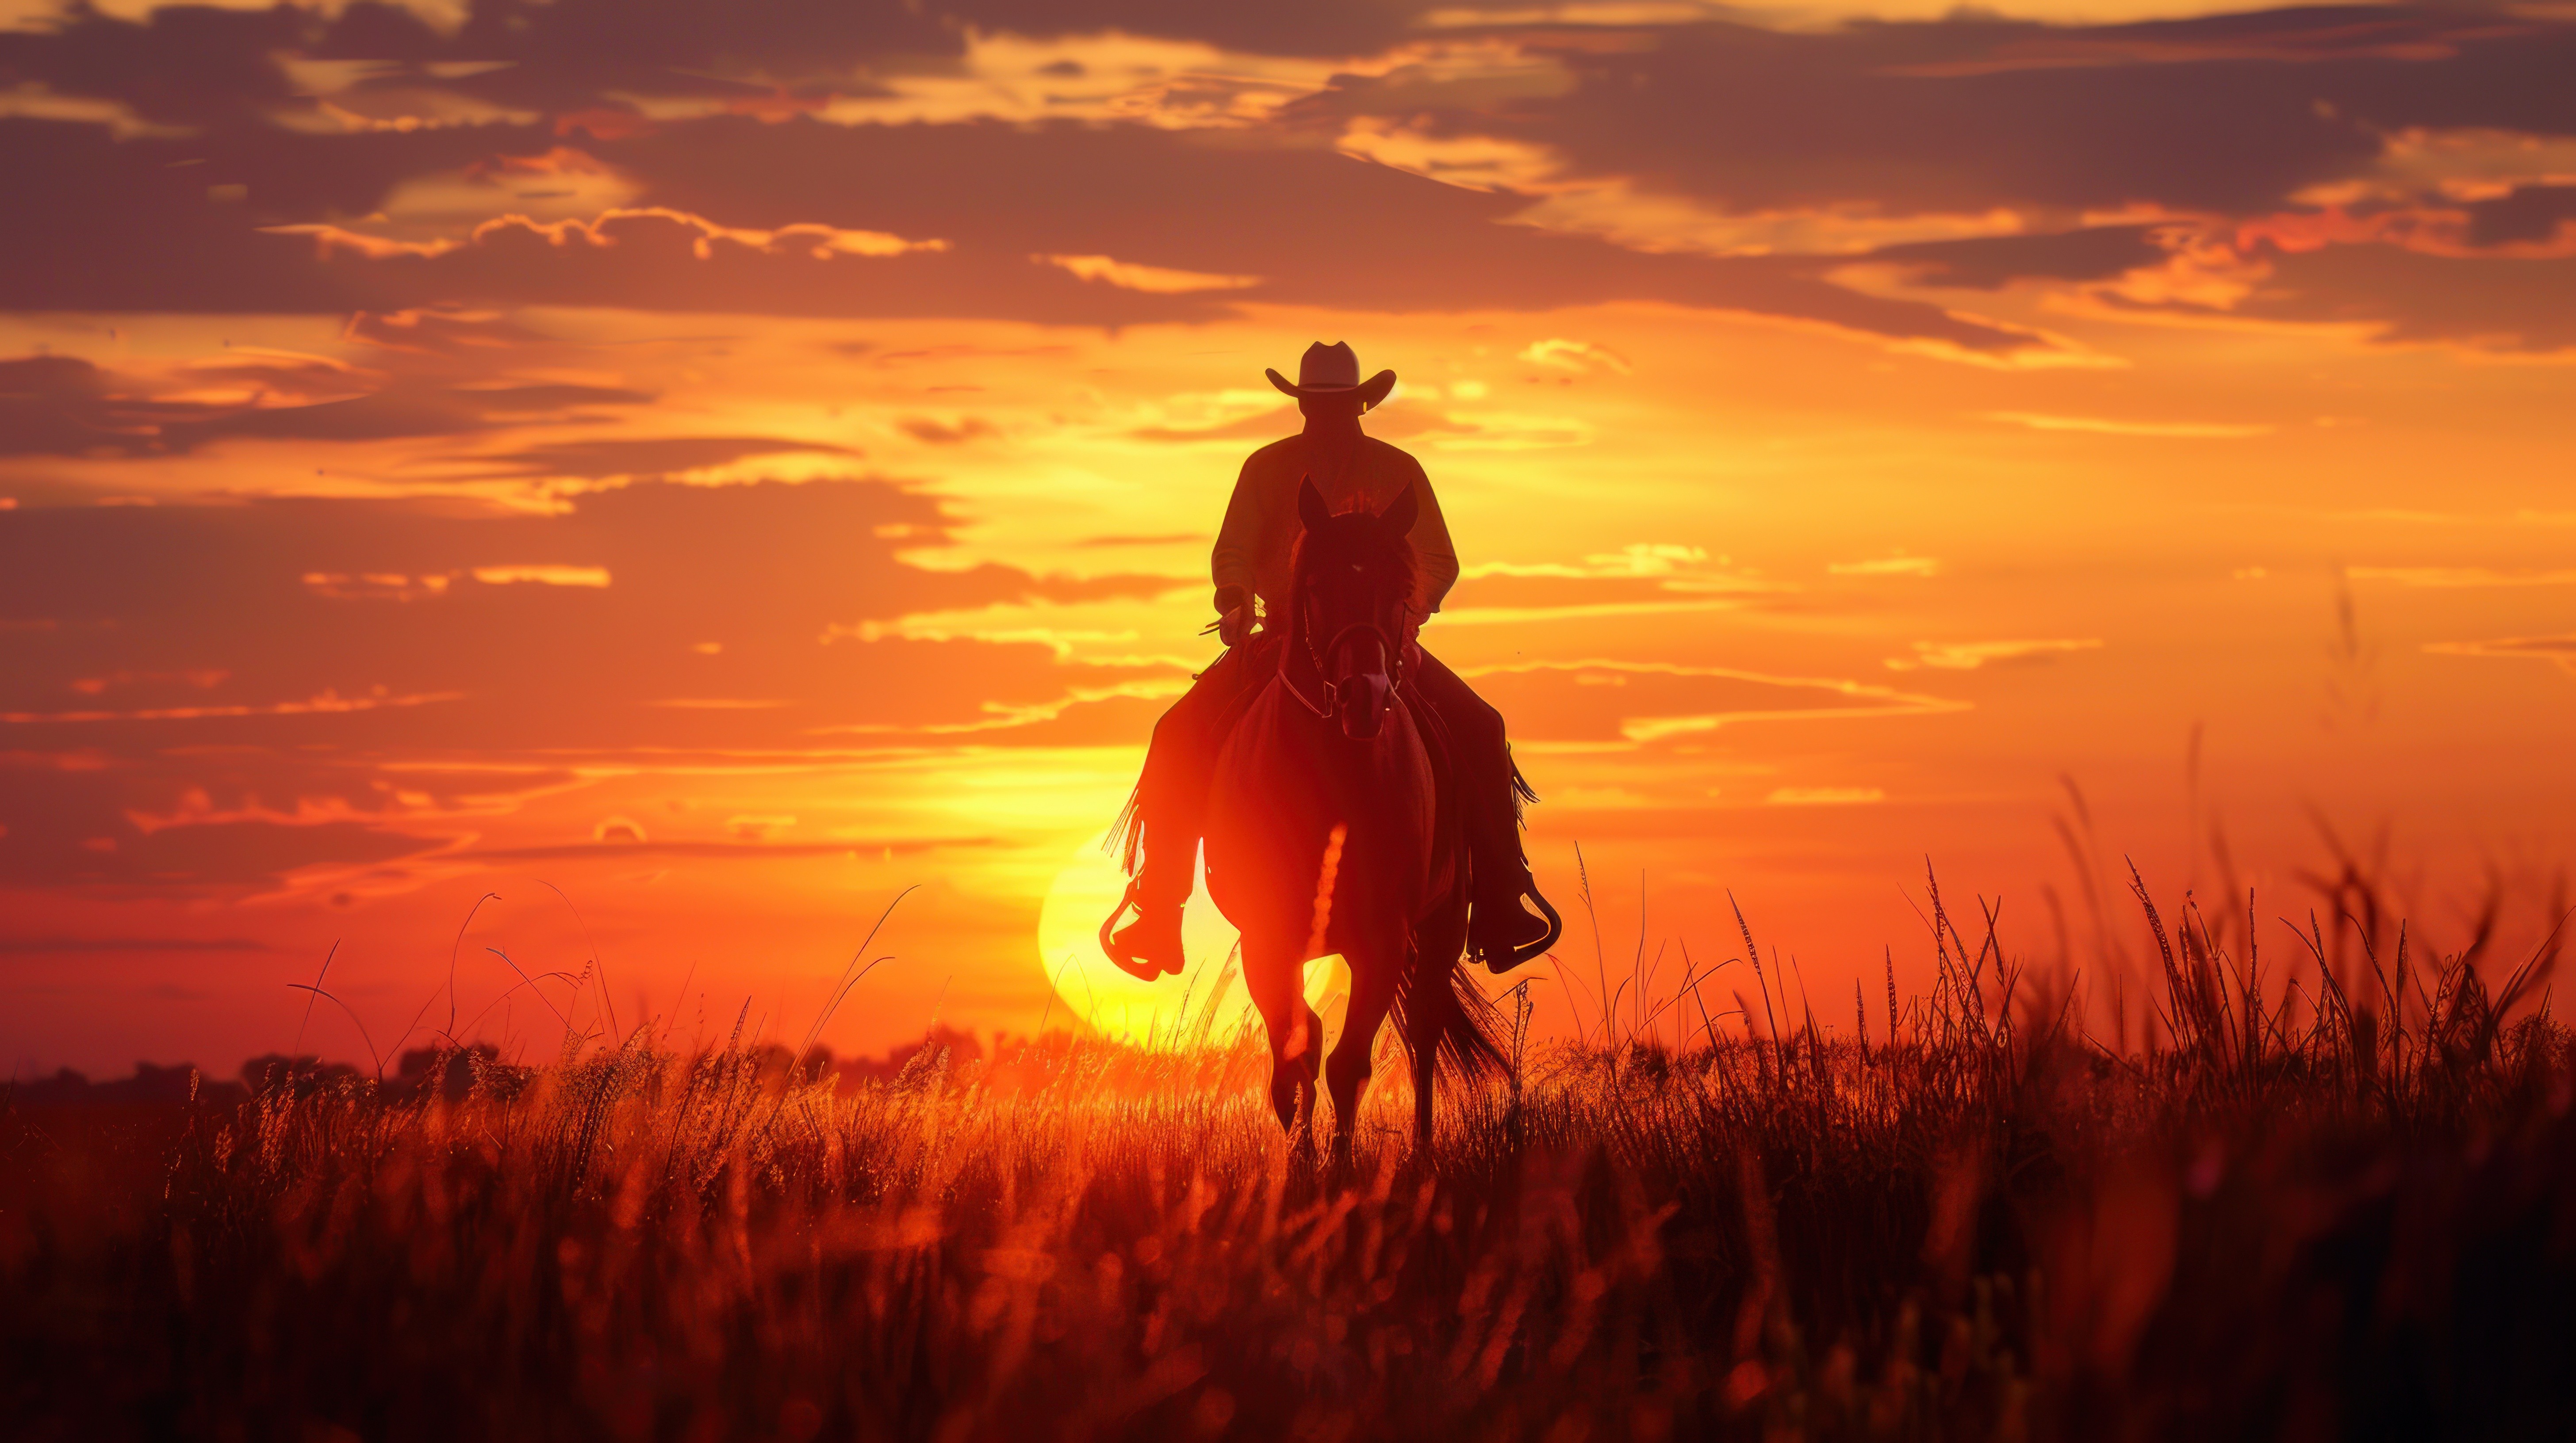
<path fill-rule="evenodd" d="M 1522 1038 L 1427 1154 L 1381 1067 L 1347 1167 L 1285 1144 L 1257 1041 L 814 1080 L 647 1028 L 456 1056 L 448 1087 L 13 1105 L 0 1415 L 31 1440 L 2566 1438 L 2555 941 L 2432 956 L 2347 912 L 2257 964 L 2244 915 L 2143 910 L 2125 1049 L 1947 917 L 1937 989 L 1855 997 L 1862 1036 L 1777 969 L 1728 969 L 1762 989 L 1728 1008 L 1749 1036 L 1705 987 L 1602 977 L 1595 1031 Z"/>

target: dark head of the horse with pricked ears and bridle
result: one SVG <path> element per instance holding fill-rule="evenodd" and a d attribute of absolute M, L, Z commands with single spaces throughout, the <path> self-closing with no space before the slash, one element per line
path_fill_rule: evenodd
<path fill-rule="evenodd" d="M 1296 624 L 1288 665 L 1311 667 L 1321 703 L 1355 742 L 1376 740 L 1386 706 L 1404 685 L 1404 621 L 1414 598 L 1406 536 L 1422 502 L 1404 487 L 1383 513 L 1334 515 L 1314 482 L 1296 495 L 1306 536 L 1296 549 Z M 1301 655 L 1298 655 L 1301 652 Z"/>

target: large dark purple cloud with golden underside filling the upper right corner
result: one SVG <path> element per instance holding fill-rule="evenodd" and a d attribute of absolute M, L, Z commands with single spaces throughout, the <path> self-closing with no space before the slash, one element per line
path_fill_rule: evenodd
<path fill-rule="evenodd" d="M 2177 265 L 2197 286 L 2136 286 L 2146 309 L 2576 345 L 2561 304 L 2576 286 L 2555 273 L 2576 260 L 2576 191 L 2550 139 L 2576 113 L 2545 80 L 2576 64 L 2566 18 L 2504 31 L 2432 8 L 2130 26 L 1963 13 L 1512 44 L 1517 82 L 1394 64 L 1337 77 L 1288 116 L 1352 152 L 1525 193 L 1525 224 L 1643 250 L 1842 253 L 1839 276 L 1868 286 L 1878 271 L 1896 294 L 2120 289 Z"/>

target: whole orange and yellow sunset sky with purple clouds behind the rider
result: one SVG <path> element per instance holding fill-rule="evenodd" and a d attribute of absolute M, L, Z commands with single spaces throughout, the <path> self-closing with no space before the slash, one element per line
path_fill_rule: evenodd
<path fill-rule="evenodd" d="M 15 1075 L 793 1041 L 876 956 L 842 1054 L 1121 1026 L 1095 840 L 1314 340 L 1450 518 L 1543 1028 L 1685 948 L 1741 1026 L 1741 907 L 1847 1031 L 1932 871 L 2136 989 L 2123 858 L 2280 969 L 2336 848 L 2432 938 L 2568 858 L 2566 5 L 0 26 Z"/>

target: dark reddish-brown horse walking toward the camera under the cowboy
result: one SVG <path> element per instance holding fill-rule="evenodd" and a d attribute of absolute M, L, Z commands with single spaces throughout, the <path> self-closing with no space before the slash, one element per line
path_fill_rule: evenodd
<path fill-rule="evenodd" d="M 1414 1067 L 1414 1136 L 1432 1139 L 1432 1085 L 1504 1069 L 1494 1005 L 1468 982 L 1466 848 L 1440 776 L 1437 716 L 1404 693 L 1406 533 L 1417 497 L 1334 515 L 1298 487 L 1298 539 L 1278 675 L 1257 683 L 1216 755 L 1206 814 L 1208 897 L 1242 933 L 1244 984 L 1270 1033 L 1270 1105 L 1314 1142 L 1321 1023 L 1306 961 L 1350 961 L 1350 1013 L 1321 1064 L 1334 1154 L 1350 1157 L 1370 1051 L 1396 1015 Z"/>

